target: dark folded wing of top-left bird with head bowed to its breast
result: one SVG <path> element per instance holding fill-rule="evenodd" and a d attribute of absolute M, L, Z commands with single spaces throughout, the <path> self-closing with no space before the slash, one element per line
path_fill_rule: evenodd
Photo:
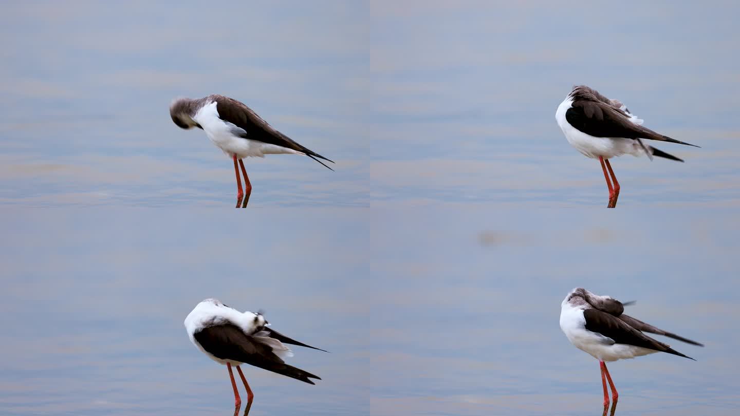
<path fill-rule="evenodd" d="M 297 150 L 298 152 L 306 153 L 309 158 L 316 160 L 316 158 L 323 159 L 325 161 L 328 158 L 319 155 L 317 152 L 310 150 L 309 148 L 298 144 L 288 136 L 275 130 L 274 127 L 267 124 L 257 113 L 252 111 L 251 108 L 247 107 L 240 101 L 236 101 L 234 98 L 229 98 L 224 95 L 211 95 L 213 101 L 216 101 L 216 110 L 218 110 L 218 117 L 223 121 L 227 121 L 234 124 L 240 130 L 235 131 L 235 134 L 242 138 L 249 138 L 249 140 L 261 141 L 263 143 L 275 144 L 277 146 L 287 147 L 288 149 Z M 316 160 L 320 164 L 321 161 Z M 331 167 L 326 166 L 329 170 L 333 170 Z"/>

